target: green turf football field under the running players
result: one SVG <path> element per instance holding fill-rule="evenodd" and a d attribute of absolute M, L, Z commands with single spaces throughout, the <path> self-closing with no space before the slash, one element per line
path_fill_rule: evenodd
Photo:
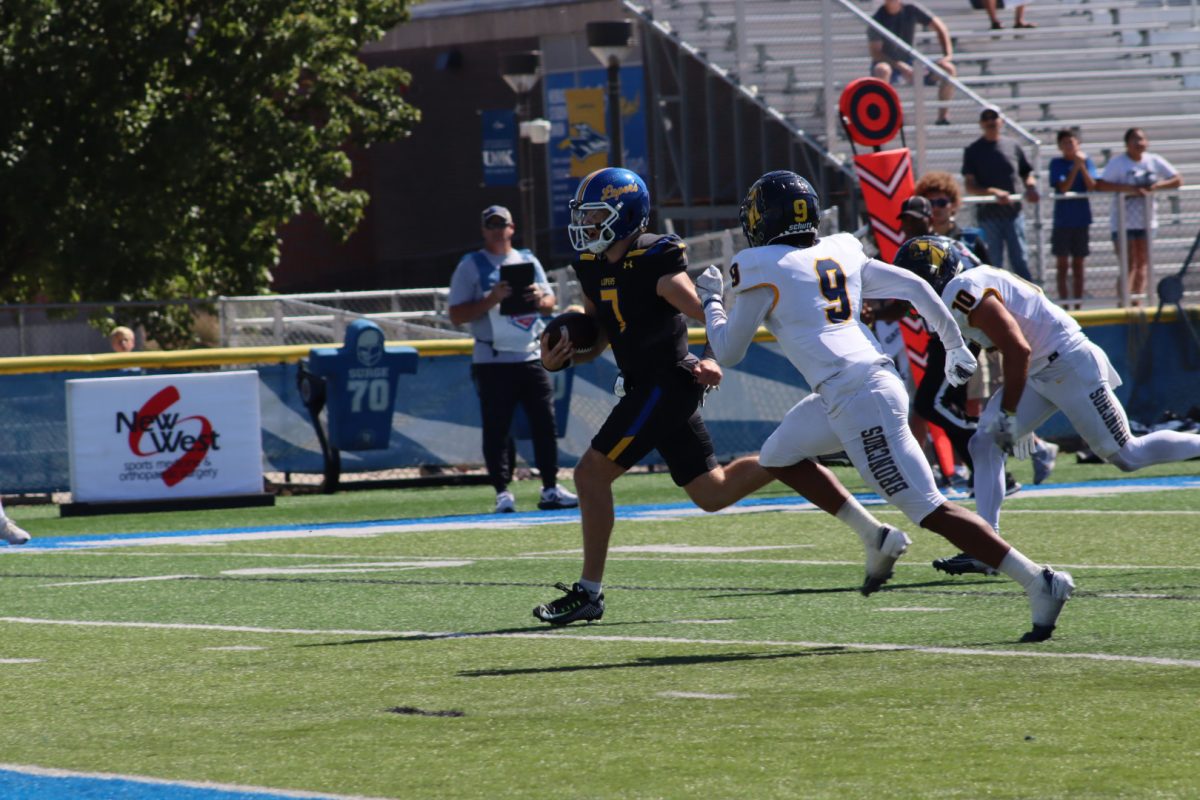
<path fill-rule="evenodd" d="M 1127 477 L 1061 461 L 1056 485 Z M 661 475 L 617 485 L 619 505 L 683 500 Z M 47 539 L 490 505 L 8 511 Z M 857 537 L 818 512 L 618 521 L 604 621 L 562 630 L 530 609 L 578 577 L 574 522 L 4 548 L 0 760 L 406 799 L 1200 795 L 1200 489 L 1010 498 L 1004 535 L 1079 587 L 1036 645 L 1015 584 L 935 572 L 952 547 L 872 511 L 914 543 L 869 599 Z"/>

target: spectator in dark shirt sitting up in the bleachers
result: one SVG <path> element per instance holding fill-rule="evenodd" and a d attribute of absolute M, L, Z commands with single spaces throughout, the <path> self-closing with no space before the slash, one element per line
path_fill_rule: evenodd
<path fill-rule="evenodd" d="M 883 0 L 883 5 L 876 10 L 871 17 L 876 23 L 892 31 L 905 44 L 912 47 L 917 34 L 917 25 L 925 30 L 932 29 L 937 35 L 937 43 L 942 48 L 942 58 L 936 64 L 947 74 L 955 76 L 954 46 L 950 42 L 950 31 L 946 23 L 935 17 L 924 6 L 916 2 L 904 2 L 902 0 Z M 871 54 L 871 76 L 892 84 L 911 84 L 913 82 L 912 54 L 896 47 L 894 42 L 884 41 L 883 36 L 874 28 L 866 31 L 866 46 Z M 950 82 L 938 78 L 932 72 L 925 73 L 925 85 L 937 86 L 937 98 L 942 102 L 949 101 L 954 96 L 954 86 Z M 949 125 L 949 109 L 944 106 L 937 109 L 937 125 Z"/>

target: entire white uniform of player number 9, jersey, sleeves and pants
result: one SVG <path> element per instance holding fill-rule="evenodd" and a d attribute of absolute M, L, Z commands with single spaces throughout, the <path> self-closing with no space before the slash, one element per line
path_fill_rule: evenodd
<path fill-rule="evenodd" d="M 763 467 L 790 467 L 845 450 L 863 479 L 920 523 L 946 498 L 908 429 L 908 393 L 892 360 L 859 320 L 863 299 L 907 300 L 947 348 L 962 337 L 937 295 L 911 272 L 863 252 L 836 234 L 812 247 L 767 245 L 738 253 L 728 270 L 732 302 L 706 306 L 718 361 L 734 365 L 760 325 L 779 341 L 812 393 L 767 439 Z"/>

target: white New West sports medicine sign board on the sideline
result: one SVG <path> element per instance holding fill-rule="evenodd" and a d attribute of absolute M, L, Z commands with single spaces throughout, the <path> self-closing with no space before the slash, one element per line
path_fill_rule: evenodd
<path fill-rule="evenodd" d="M 76 503 L 260 494 L 258 373 L 67 381 Z"/>

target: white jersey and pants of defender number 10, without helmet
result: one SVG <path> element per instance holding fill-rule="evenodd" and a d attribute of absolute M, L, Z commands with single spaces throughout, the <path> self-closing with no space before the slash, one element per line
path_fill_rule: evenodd
<path fill-rule="evenodd" d="M 988 295 L 1004 303 L 1031 349 L 1028 378 L 1016 404 L 1019 435 L 1032 433 L 1061 410 L 1092 452 L 1127 471 L 1200 456 L 1200 437 L 1164 437 L 1159 434 L 1174 432 L 1157 432 L 1134 438 L 1114 392 L 1121 385 L 1121 377 L 1108 355 L 1042 289 L 1015 275 L 977 266 L 946 284 L 942 300 L 950 307 L 962 336 L 992 347 L 967 319 Z M 970 445 L 978 512 L 997 530 L 1004 498 L 1004 453 L 986 432 L 1003 414 L 1003 393 L 1001 389 L 988 401 Z"/>

